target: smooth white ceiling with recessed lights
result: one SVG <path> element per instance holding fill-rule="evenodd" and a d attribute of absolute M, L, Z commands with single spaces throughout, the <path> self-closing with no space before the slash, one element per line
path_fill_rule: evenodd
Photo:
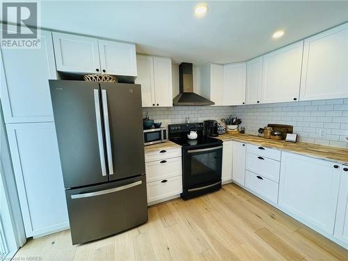
<path fill-rule="evenodd" d="M 42 1 L 41 26 L 136 43 L 176 63 L 232 63 L 348 21 L 348 1 Z M 283 38 L 271 35 L 285 30 Z"/>

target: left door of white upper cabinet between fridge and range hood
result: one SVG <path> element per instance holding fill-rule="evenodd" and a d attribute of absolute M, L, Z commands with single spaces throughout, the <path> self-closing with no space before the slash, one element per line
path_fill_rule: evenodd
<path fill-rule="evenodd" d="M 138 76 L 135 83 L 141 85 L 141 103 L 143 107 L 155 106 L 155 84 L 153 58 L 151 56 L 136 56 Z"/>

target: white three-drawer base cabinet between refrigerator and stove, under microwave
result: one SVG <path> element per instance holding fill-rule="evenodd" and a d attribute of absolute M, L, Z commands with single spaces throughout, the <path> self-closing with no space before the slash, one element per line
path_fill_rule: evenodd
<path fill-rule="evenodd" d="M 182 193 L 181 148 L 145 152 L 148 205 Z"/>

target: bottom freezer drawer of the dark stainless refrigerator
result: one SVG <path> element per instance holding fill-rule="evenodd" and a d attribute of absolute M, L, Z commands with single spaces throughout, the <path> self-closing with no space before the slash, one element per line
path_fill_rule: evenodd
<path fill-rule="evenodd" d="M 148 221 L 145 175 L 65 191 L 72 244 L 122 232 Z"/>

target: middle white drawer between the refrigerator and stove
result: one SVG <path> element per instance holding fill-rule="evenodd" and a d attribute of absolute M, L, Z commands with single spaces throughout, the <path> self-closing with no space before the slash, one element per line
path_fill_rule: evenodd
<path fill-rule="evenodd" d="M 151 161 L 145 164 L 146 180 L 152 182 L 164 177 L 174 177 L 182 174 L 181 157 Z"/>

